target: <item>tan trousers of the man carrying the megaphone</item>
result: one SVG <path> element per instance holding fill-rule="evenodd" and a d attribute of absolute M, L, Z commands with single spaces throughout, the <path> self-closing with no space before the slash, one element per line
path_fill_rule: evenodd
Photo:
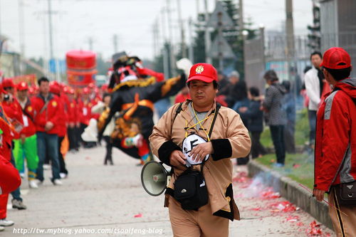
<path fill-rule="evenodd" d="M 210 204 L 198 211 L 183 210 L 181 204 L 169 196 L 169 219 L 174 237 L 228 237 L 229 219 L 213 216 Z"/>

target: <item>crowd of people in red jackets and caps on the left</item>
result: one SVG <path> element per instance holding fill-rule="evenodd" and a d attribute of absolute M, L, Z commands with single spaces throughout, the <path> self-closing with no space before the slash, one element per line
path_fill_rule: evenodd
<path fill-rule="evenodd" d="M 48 78 L 39 78 L 37 83 L 15 84 L 6 78 L 0 90 L 0 157 L 6 164 L 11 162 L 21 178 L 27 174 L 31 189 L 43 184 L 46 164 L 51 165 L 51 182 L 62 185 L 61 179 L 68 177 L 66 153 L 96 144 L 83 141 L 80 135 L 91 118 L 100 116 L 91 111 L 102 94 L 93 83 L 77 91 Z M 8 196 L 0 195 L 0 226 L 14 224 L 6 219 Z M 26 209 L 20 188 L 12 191 L 11 196 L 14 209 Z"/>

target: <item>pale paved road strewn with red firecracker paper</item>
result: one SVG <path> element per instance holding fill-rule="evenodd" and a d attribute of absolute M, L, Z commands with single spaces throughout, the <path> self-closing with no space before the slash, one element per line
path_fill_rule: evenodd
<path fill-rule="evenodd" d="M 27 181 L 23 181 L 28 209 L 9 209 L 8 218 L 16 223 L 0 236 L 23 236 L 26 231 L 32 233 L 25 236 L 39 237 L 172 236 L 164 196 L 145 193 L 137 160 L 115 149 L 115 165 L 104 166 L 104 154 L 103 147 L 68 154 L 70 174 L 63 186 L 51 184 L 50 171 L 46 171 L 46 180 L 39 189 L 28 189 Z M 271 191 L 265 191 L 263 197 L 253 195 L 256 191 L 251 188 L 251 180 L 244 177 L 246 168 L 240 169 L 234 191 L 242 219 L 230 222 L 230 236 L 308 236 L 312 217 L 301 210 L 288 211 L 290 206 L 283 206 L 286 200 Z M 261 187 L 257 193 L 261 194 Z M 318 228 L 323 236 L 333 233 L 325 226 Z"/>

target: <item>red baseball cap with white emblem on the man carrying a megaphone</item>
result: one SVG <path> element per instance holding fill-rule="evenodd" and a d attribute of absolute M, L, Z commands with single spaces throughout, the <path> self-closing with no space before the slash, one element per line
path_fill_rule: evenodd
<path fill-rule="evenodd" d="M 187 83 L 191 80 L 202 80 L 204 83 L 211 83 L 218 80 L 218 73 L 213 65 L 209 63 L 197 63 L 190 68 Z"/>

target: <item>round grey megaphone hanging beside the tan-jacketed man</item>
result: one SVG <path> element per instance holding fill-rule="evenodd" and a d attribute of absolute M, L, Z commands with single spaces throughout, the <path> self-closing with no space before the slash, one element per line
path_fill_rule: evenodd
<path fill-rule="evenodd" d="M 167 187 L 169 174 L 161 162 L 147 162 L 141 171 L 141 183 L 145 191 L 152 196 L 159 196 Z"/>

